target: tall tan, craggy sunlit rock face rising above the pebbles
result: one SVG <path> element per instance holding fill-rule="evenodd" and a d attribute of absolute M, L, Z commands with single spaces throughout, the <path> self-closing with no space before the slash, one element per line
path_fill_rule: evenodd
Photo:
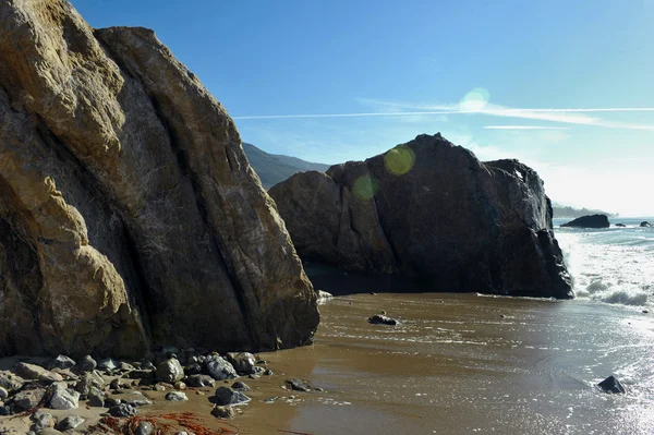
<path fill-rule="evenodd" d="M 317 323 L 234 123 L 155 34 L 0 1 L 0 354 L 275 349 Z"/>

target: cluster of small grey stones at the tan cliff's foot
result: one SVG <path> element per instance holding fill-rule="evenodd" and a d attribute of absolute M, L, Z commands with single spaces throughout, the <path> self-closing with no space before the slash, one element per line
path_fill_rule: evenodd
<path fill-rule="evenodd" d="M 52 435 L 71 432 L 85 420 L 75 414 L 59 421 L 48 409 L 71 410 L 80 407 L 105 408 L 100 415 L 131 418 L 141 407 L 153 403 L 147 390 L 165 391 L 168 401 L 186 401 L 184 390 L 213 387 L 216 382 L 249 376 L 256 379 L 272 375 L 265 361 L 249 352 L 199 352 L 161 348 L 138 362 L 111 358 L 96 360 L 86 355 L 75 362 L 59 355 L 48 363 L 36 360 L 19 362 L 10 371 L 0 371 L 0 415 L 31 414 L 29 435 Z M 250 402 L 250 387 L 240 380 L 231 387 L 220 386 L 209 401 L 215 403 L 213 415 L 229 419 L 232 407 Z M 199 394 L 199 391 L 198 391 Z M 84 402 L 84 403 L 83 403 Z M 149 423 L 148 423 L 149 424 Z M 150 433 L 147 427 L 143 433 Z"/>

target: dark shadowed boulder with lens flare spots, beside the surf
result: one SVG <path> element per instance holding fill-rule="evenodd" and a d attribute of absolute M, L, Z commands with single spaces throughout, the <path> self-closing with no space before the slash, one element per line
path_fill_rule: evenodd
<path fill-rule="evenodd" d="M 420 135 L 269 191 L 300 256 L 437 291 L 572 297 L 538 176 Z"/>

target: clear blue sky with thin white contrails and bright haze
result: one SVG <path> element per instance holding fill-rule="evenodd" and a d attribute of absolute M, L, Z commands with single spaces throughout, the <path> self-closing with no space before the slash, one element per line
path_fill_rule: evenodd
<path fill-rule="evenodd" d="M 440 132 L 556 202 L 654 216 L 654 0 L 73 0 L 144 26 L 244 142 L 337 164 Z"/>

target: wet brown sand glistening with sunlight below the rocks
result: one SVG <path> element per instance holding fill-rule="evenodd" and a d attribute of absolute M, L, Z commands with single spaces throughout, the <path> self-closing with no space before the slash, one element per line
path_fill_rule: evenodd
<path fill-rule="evenodd" d="M 382 310 L 401 324 L 366 322 Z M 443 293 L 339 297 L 320 311 L 314 346 L 259 354 L 275 375 L 243 378 L 252 401 L 233 426 L 210 415 L 215 388 L 187 389 L 187 402 L 144 391 L 155 404 L 140 415 L 193 411 L 211 428 L 253 435 L 654 433 L 652 314 Z M 627 395 L 595 387 L 610 374 Z M 290 377 L 325 390 L 282 389 Z M 104 411 L 53 413 L 94 420 Z M 0 420 L 8 423 L 19 425 Z"/>

